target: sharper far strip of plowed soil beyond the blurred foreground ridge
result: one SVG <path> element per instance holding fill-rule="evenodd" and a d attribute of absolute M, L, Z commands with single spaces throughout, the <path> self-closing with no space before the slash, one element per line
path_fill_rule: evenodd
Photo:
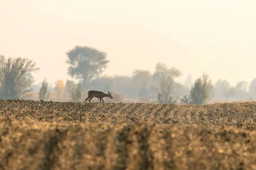
<path fill-rule="evenodd" d="M 256 122 L 256 102 L 173 105 L 0 99 L 0 116 L 47 122 L 147 122 L 252 127 Z"/>

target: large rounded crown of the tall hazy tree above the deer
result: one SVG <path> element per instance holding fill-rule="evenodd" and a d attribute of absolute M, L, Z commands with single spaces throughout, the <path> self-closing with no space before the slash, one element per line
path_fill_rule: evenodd
<path fill-rule="evenodd" d="M 88 86 L 91 80 L 99 77 L 109 62 L 105 52 L 87 46 L 75 46 L 66 54 L 66 63 L 70 65 L 68 75 L 81 81 L 83 86 Z"/>

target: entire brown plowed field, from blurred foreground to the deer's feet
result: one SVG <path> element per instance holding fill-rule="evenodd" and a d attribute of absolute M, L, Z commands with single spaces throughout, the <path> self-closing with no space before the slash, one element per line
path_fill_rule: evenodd
<path fill-rule="evenodd" d="M 0 169 L 256 170 L 256 102 L 0 100 Z"/>

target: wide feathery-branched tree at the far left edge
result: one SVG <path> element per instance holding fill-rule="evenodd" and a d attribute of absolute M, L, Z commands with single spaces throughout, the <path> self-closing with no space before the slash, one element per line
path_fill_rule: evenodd
<path fill-rule="evenodd" d="M 38 71 L 35 62 L 27 58 L 8 58 L 0 56 L 0 98 L 25 99 L 32 91 L 35 80 L 32 72 Z"/>

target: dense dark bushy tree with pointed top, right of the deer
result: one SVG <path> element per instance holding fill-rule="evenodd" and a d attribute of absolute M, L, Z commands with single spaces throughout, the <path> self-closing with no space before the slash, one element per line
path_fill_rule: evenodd
<path fill-rule="evenodd" d="M 213 85 L 211 80 L 208 81 L 208 78 L 209 76 L 204 73 L 203 77 L 196 79 L 194 85 L 192 85 L 190 98 L 192 99 L 193 104 L 206 104 L 207 100 L 210 98 Z"/>

